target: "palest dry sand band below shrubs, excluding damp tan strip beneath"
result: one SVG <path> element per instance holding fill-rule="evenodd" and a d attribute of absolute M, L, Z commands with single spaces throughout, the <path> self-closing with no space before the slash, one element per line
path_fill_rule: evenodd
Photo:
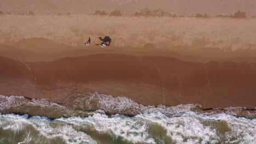
<path fill-rule="evenodd" d="M 7 15 L 1 16 L 0 20 L 1 43 L 45 38 L 66 45 L 83 46 L 89 36 L 92 43 L 99 43 L 97 37 L 109 35 L 113 46 L 197 44 L 235 50 L 256 44 L 256 19 L 253 18 Z"/>

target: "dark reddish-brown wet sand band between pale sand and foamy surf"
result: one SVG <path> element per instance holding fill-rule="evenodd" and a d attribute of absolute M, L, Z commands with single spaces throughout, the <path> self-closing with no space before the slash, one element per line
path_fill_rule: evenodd
<path fill-rule="evenodd" d="M 1 82 L 1 93 L 65 103 L 63 99 L 79 90 L 129 97 L 143 105 L 200 104 L 203 108 L 254 109 L 255 65 L 98 54 L 28 63 L 29 70 L 21 62 L 2 58 L 1 67 L 6 72 L 1 74 L 1 80 L 5 80 Z M 13 85 L 5 85 L 11 81 Z"/>

